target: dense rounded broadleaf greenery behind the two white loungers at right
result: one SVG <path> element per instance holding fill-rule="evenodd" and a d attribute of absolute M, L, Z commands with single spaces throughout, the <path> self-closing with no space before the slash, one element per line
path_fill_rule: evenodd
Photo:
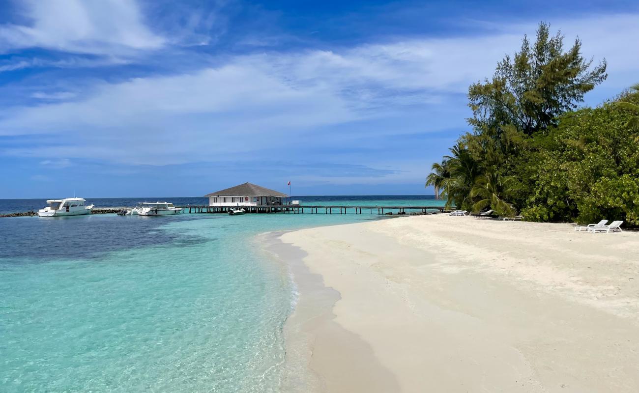
<path fill-rule="evenodd" d="M 639 105 L 639 92 L 624 96 Z M 639 224 L 639 144 L 635 117 L 617 103 L 583 108 L 558 118 L 512 158 L 522 215 L 537 221 Z"/>

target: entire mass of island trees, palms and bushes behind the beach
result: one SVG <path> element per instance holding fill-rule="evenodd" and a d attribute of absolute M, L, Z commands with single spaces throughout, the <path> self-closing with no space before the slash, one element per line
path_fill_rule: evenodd
<path fill-rule="evenodd" d="M 639 84 L 597 107 L 583 96 L 607 77 L 606 61 L 541 23 L 535 42 L 472 84 L 472 127 L 433 164 L 426 185 L 449 208 L 534 221 L 639 225 Z"/>

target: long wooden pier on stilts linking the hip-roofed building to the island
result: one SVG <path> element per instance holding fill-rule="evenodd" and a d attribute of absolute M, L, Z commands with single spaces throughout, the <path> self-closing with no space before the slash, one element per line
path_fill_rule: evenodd
<path fill-rule="evenodd" d="M 228 213 L 229 210 L 242 208 L 247 213 L 289 213 L 289 214 L 388 214 L 397 210 L 397 214 L 413 212 L 444 212 L 443 206 L 344 206 L 344 205 L 263 205 L 263 206 L 181 206 L 183 213 Z M 334 212 L 335 211 L 335 212 Z"/>

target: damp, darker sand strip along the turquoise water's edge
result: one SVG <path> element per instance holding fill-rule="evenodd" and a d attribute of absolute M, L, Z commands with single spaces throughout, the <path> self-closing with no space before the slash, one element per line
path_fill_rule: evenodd
<path fill-rule="evenodd" d="M 356 334 L 335 323 L 333 307 L 340 299 L 339 292 L 325 286 L 321 275 L 312 273 L 304 264 L 303 259 L 307 255 L 304 250 L 282 242 L 282 235 L 294 231 L 260 235 L 263 250 L 289 269 L 296 289 L 295 306 L 284 325 L 286 358 L 282 391 L 396 391 L 398 387 L 394 377 L 376 361 L 371 347 Z M 334 359 L 332 353 L 344 346 L 353 356 Z M 327 367 L 327 361 L 332 363 L 330 367 Z M 346 367 L 352 362 L 358 363 L 356 369 Z M 335 364 L 341 366 L 335 367 Z M 328 381 L 325 378 L 327 374 L 330 374 Z M 373 381 L 370 380 L 371 375 L 374 376 Z M 334 380 L 339 381 L 338 386 L 332 383 Z"/>

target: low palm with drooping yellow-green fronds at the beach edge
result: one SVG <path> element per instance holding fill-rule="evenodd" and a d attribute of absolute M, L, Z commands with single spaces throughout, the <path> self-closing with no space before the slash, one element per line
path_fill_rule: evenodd
<path fill-rule="evenodd" d="M 486 171 L 481 176 L 477 176 L 470 191 L 470 197 L 481 199 L 473 204 L 473 210 L 481 212 L 481 210 L 490 207 L 498 215 L 515 215 L 517 211 L 514 206 L 502 199 L 507 192 L 510 181 L 510 178 L 502 180 L 495 171 Z"/>

